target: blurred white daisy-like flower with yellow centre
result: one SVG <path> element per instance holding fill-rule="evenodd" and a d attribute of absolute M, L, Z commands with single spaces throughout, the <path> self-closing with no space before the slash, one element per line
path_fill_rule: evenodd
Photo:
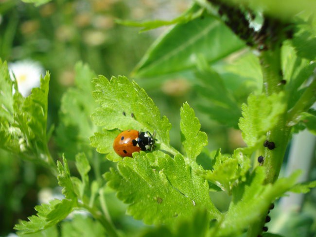
<path fill-rule="evenodd" d="M 40 85 L 40 77 L 44 76 L 44 69 L 38 63 L 30 60 L 17 61 L 8 64 L 11 80 L 17 79 L 18 91 L 27 97 L 32 88 Z"/>

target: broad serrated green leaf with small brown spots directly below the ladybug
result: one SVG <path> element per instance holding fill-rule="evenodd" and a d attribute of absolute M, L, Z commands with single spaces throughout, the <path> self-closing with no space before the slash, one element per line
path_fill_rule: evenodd
<path fill-rule="evenodd" d="M 134 158 L 118 162 L 118 170 L 105 173 L 108 186 L 129 204 L 128 214 L 146 224 L 168 225 L 189 218 L 196 209 L 208 210 L 211 218 L 220 216 L 209 198 L 207 181 L 197 176 L 181 155 L 174 159 L 167 154 L 157 157 L 151 167 L 153 156 L 134 153 Z"/>

